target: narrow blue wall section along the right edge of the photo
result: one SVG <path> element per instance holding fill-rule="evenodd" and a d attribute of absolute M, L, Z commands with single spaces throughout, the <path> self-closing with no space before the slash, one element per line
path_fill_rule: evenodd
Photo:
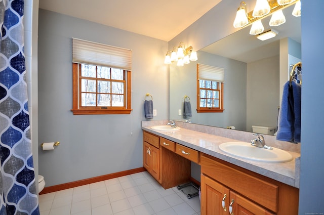
<path fill-rule="evenodd" d="M 302 1 L 302 127 L 299 214 L 324 213 L 324 1 Z"/>

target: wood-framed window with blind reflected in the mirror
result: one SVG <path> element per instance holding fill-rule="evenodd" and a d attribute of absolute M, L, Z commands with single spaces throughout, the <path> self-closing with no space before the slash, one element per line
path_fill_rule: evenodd
<path fill-rule="evenodd" d="M 197 112 L 223 112 L 224 69 L 197 64 Z"/>

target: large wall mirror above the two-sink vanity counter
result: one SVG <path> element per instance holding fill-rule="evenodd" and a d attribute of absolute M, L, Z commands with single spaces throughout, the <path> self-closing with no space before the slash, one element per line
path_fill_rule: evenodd
<path fill-rule="evenodd" d="M 192 123 L 247 132 L 252 132 L 252 125 L 276 127 L 280 89 L 289 79 L 290 65 L 301 61 L 301 23 L 292 15 L 293 8 L 284 9 L 286 23 L 280 26 L 269 27 L 270 16 L 262 19 L 265 29 L 278 31 L 274 38 L 261 41 L 247 26 L 199 50 L 198 61 L 183 67 L 171 64 L 170 119 L 188 119 L 179 114 L 188 96 Z M 196 112 L 197 63 L 225 69 L 223 113 Z"/>

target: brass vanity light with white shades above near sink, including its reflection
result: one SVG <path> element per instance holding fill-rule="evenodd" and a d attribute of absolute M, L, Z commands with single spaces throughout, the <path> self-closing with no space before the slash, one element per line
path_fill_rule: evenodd
<path fill-rule="evenodd" d="M 300 0 L 257 0 L 254 10 L 249 13 L 246 13 L 246 3 L 241 2 L 240 7 L 237 9 L 233 26 L 235 28 L 239 28 L 252 23 L 250 34 L 258 34 L 260 33 L 260 29 L 262 29 L 262 23 L 260 24 L 260 22 L 258 22 L 260 19 L 265 16 L 272 15 L 269 22 L 270 26 L 284 24 L 286 22 L 286 18 L 284 13 L 282 13 L 282 9 L 293 4 L 296 4 L 296 10 L 294 9 L 293 15 L 300 16 Z M 247 24 L 246 19 L 248 19 Z"/>

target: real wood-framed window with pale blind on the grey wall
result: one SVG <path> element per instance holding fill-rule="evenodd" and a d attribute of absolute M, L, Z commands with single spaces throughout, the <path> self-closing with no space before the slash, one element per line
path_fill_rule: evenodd
<path fill-rule="evenodd" d="M 73 114 L 129 114 L 132 51 L 72 38 Z"/>

